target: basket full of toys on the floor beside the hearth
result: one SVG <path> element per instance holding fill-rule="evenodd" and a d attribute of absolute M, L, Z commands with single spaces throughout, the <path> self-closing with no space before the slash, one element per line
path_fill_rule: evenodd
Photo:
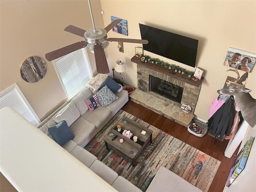
<path fill-rule="evenodd" d="M 208 126 L 197 120 L 192 120 L 188 125 L 188 132 L 192 133 L 195 136 L 202 137 L 207 133 Z"/>

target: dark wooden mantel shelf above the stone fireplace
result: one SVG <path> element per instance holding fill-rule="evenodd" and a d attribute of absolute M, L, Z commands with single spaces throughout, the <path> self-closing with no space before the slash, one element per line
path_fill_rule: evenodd
<path fill-rule="evenodd" d="M 155 70 L 157 72 L 160 72 L 162 74 L 165 74 L 165 75 L 168 75 L 168 76 L 171 76 L 173 78 L 176 78 L 178 80 L 181 80 L 183 82 L 186 82 L 188 84 L 192 84 L 194 86 L 201 86 L 203 80 L 204 80 L 204 77 L 201 78 L 201 80 L 198 80 L 198 81 L 194 81 L 194 80 L 187 80 L 186 79 L 186 75 L 182 75 L 181 73 L 175 73 L 173 69 L 168 69 L 168 68 L 165 68 L 164 66 L 160 66 L 158 64 L 151 64 L 151 63 L 145 63 L 145 62 L 141 62 L 140 61 L 140 58 L 134 56 L 131 58 L 131 62 L 134 62 L 138 65 L 141 65 L 141 66 L 144 66 L 146 68 L 150 68 L 152 70 Z"/>

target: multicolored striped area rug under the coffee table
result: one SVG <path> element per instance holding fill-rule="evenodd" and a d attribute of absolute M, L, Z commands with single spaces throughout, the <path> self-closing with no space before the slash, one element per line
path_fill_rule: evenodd
<path fill-rule="evenodd" d="M 124 116 L 153 131 L 152 143 L 142 152 L 134 167 L 118 154 L 107 150 L 103 141 L 112 127 Z M 161 166 L 207 192 L 221 163 L 123 110 L 120 110 L 84 148 L 144 192 Z"/>

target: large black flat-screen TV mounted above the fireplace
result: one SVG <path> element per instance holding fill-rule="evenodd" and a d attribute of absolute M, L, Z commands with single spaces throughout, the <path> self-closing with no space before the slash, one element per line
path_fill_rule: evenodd
<path fill-rule="evenodd" d="M 141 39 L 148 40 L 143 49 L 171 60 L 196 66 L 198 40 L 139 24 Z"/>

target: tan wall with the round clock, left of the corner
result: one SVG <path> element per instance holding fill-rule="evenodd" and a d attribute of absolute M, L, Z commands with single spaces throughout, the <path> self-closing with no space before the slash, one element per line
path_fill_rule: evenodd
<path fill-rule="evenodd" d="M 100 14 L 100 0 L 91 2 L 97 26 L 104 27 Z M 0 91 L 14 83 L 43 120 L 66 101 L 52 62 L 45 59 L 47 52 L 83 40 L 64 31 L 70 24 L 92 28 L 88 2 L 54 0 L 1 0 Z M 92 70 L 96 73 L 94 54 L 88 52 Z M 42 57 L 48 66 L 46 76 L 36 83 L 28 83 L 20 76 L 20 66 L 30 56 Z"/>

